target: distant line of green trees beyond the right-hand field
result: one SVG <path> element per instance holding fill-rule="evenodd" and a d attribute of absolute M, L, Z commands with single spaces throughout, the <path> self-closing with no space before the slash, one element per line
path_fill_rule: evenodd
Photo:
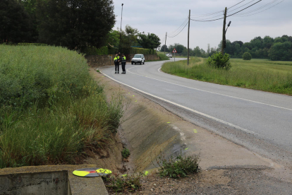
<path fill-rule="evenodd" d="M 186 56 L 188 49 L 181 44 L 163 45 L 161 52 L 172 52 L 174 48 L 178 54 Z M 190 56 L 195 57 L 210 57 L 212 54 L 221 51 L 221 43 L 218 47 L 210 47 L 208 44 L 207 51 L 200 47 L 190 48 Z M 230 54 L 232 58 L 242 58 L 245 52 L 252 55 L 255 59 L 271 59 L 273 61 L 292 61 L 292 37 L 283 35 L 281 37 L 272 38 L 269 36 L 255 37 L 250 42 L 243 43 L 242 41 L 226 40 L 226 48 L 224 52 Z"/>

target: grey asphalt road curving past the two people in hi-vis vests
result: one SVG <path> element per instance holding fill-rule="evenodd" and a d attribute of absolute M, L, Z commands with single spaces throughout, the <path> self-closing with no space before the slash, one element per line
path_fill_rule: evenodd
<path fill-rule="evenodd" d="M 171 76 L 160 71 L 163 63 L 128 63 L 126 74 L 115 74 L 114 66 L 100 70 L 178 116 L 292 167 L 291 96 Z"/>

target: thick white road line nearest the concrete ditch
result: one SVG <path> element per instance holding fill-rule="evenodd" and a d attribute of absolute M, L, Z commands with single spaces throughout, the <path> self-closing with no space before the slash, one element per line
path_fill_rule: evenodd
<path fill-rule="evenodd" d="M 100 71 L 100 72 L 103 73 L 102 71 Z M 103 73 L 103 74 L 104 74 L 105 76 L 107 76 L 108 78 L 111 78 L 111 77 L 108 76 L 106 73 Z M 130 86 L 130 85 L 127 85 L 126 83 L 122 83 L 122 82 L 120 82 L 120 81 L 117 81 L 117 80 L 114 79 L 114 78 L 111 78 L 111 80 L 116 81 L 117 83 L 121 83 L 122 85 L 126 85 L 126 86 L 128 86 L 129 88 L 133 88 L 134 90 L 138 90 L 138 91 L 140 91 L 141 93 L 145 93 L 146 95 L 150 95 L 150 96 L 152 96 L 153 98 L 157 98 L 157 99 L 159 99 L 159 100 L 163 100 L 164 102 L 169 102 L 169 103 L 171 103 L 172 105 L 176 105 L 176 106 L 178 106 L 178 107 L 182 107 L 183 109 L 185 109 L 185 110 L 189 110 L 190 112 L 195 112 L 196 114 L 200 114 L 200 115 L 202 115 L 202 116 L 204 116 L 204 117 L 207 117 L 207 118 L 209 118 L 209 119 L 213 119 L 214 121 L 221 122 L 222 124 L 226 124 L 226 125 L 232 126 L 233 128 L 236 128 L 236 129 L 240 129 L 241 131 L 244 131 L 245 133 L 248 133 L 248 134 L 254 134 L 254 135 L 257 135 L 257 136 L 261 136 L 261 137 L 263 137 L 263 136 L 260 135 L 260 134 L 257 134 L 257 133 L 255 133 L 255 132 L 253 132 L 253 131 L 248 130 L 248 129 L 244 129 L 244 128 L 242 128 L 241 126 L 237 126 L 236 124 L 231 124 L 230 122 L 226 122 L 226 121 L 224 121 L 224 120 L 217 119 L 217 118 L 212 117 L 212 116 L 210 116 L 210 115 L 208 115 L 208 114 L 204 114 L 204 113 L 199 112 L 199 111 L 197 111 L 197 110 L 193 110 L 193 109 L 191 109 L 191 108 L 189 108 L 189 107 L 185 107 L 185 106 L 183 106 L 183 105 L 179 105 L 179 104 L 177 104 L 177 103 L 175 103 L 175 102 L 171 102 L 171 101 L 166 100 L 166 99 L 164 99 L 164 98 L 160 98 L 160 97 L 158 97 L 158 96 L 156 96 L 156 95 L 152 95 L 151 93 L 147 93 L 147 92 L 145 92 L 145 91 L 143 91 L 143 90 L 140 90 L 140 89 L 138 89 L 138 88 L 134 88 L 134 87 L 132 87 L 132 86 Z"/>

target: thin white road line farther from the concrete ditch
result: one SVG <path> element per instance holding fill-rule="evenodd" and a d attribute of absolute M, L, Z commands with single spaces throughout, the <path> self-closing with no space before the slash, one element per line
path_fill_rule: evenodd
<path fill-rule="evenodd" d="M 137 68 L 137 67 L 132 67 L 130 69 L 133 69 L 133 68 Z M 161 67 L 158 69 L 158 71 L 160 73 L 164 73 L 162 71 L 160 71 L 160 69 L 162 69 Z M 128 69 L 129 70 L 129 69 Z M 129 73 L 133 73 L 131 71 L 128 71 Z M 138 76 L 143 76 L 141 74 L 138 74 L 138 73 L 133 73 L 135 75 L 138 75 Z M 149 77 L 149 76 L 144 76 L 144 77 L 147 77 L 147 78 L 152 78 L 152 77 Z M 183 77 L 180 77 L 180 78 L 183 78 Z M 154 80 L 157 80 L 157 81 L 162 81 L 162 80 L 159 80 L 157 78 L 152 78 Z M 225 97 L 228 97 L 228 98 L 235 98 L 235 99 L 238 99 L 238 100 L 244 100 L 244 101 L 248 101 L 248 102 L 253 102 L 253 103 L 257 103 L 257 104 L 260 104 L 260 105 L 267 105 L 267 106 L 270 106 L 270 107 L 276 107 L 276 108 L 280 108 L 280 109 L 284 109 L 284 110 L 290 110 L 292 111 L 292 109 L 290 108 L 286 108 L 286 107 L 279 107 L 279 106 L 276 106 L 276 105 L 269 105 L 269 104 L 266 104 L 266 103 L 262 103 L 262 102 L 256 102 L 256 101 L 253 101 L 253 100 L 248 100 L 248 99 L 244 99 L 244 98 L 237 98 L 237 97 L 234 97 L 234 96 L 231 96 L 231 95 L 224 95 L 224 94 L 221 94 L 221 93 L 215 93 L 215 92 L 212 92 L 212 91 L 208 91 L 208 90 L 201 90 L 201 89 L 198 89 L 198 88 L 191 88 L 191 87 L 188 87 L 188 86 L 185 86 L 185 85 L 179 85 L 179 84 L 176 84 L 176 83 L 171 83 L 171 82 L 168 82 L 168 81 L 162 81 L 164 83 L 169 83 L 169 84 L 173 84 L 173 85 L 178 85 L 178 86 L 181 86 L 181 87 L 184 87 L 184 88 L 190 88 L 190 89 L 193 89 L 193 90 L 200 90 L 202 92 L 207 92 L 207 93 L 212 93 L 212 94 L 216 94 L 216 95 L 222 95 L 222 96 L 225 96 Z"/>

